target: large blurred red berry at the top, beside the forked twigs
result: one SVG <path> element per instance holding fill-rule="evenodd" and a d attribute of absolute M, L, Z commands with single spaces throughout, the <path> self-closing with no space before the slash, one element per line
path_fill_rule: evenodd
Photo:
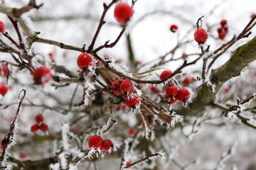
<path fill-rule="evenodd" d="M 123 26 L 127 23 L 127 21 L 129 21 L 132 15 L 132 7 L 128 4 L 119 3 L 114 8 L 114 18 L 116 18 L 117 22 Z"/>

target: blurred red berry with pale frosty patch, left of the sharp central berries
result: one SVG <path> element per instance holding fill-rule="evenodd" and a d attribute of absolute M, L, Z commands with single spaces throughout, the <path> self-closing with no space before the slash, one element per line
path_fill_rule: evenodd
<path fill-rule="evenodd" d="M 46 66 L 39 67 L 33 72 L 33 80 L 35 84 L 46 84 L 52 77 L 50 69 Z"/>

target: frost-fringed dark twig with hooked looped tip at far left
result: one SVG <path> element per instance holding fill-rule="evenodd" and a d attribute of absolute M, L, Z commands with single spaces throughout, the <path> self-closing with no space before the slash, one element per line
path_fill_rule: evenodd
<path fill-rule="evenodd" d="M 21 92 L 23 92 L 23 96 L 21 96 L 21 98 L 20 98 Z M 25 96 L 26 96 L 26 90 L 22 89 L 20 91 L 20 93 L 18 94 L 18 98 L 20 99 L 20 101 L 18 103 L 18 108 L 17 108 L 17 111 L 16 111 L 16 115 L 14 117 L 14 121 L 11 123 L 11 127 L 10 127 L 10 130 L 9 130 L 8 134 L 4 137 L 4 140 L 1 141 L 1 145 L 4 146 L 4 149 L 3 149 L 3 152 L 2 152 L 1 157 L 0 157 L 0 162 L 2 162 L 4 160 L 4 156 L 6 154 L 6 148 L 8 147 L 8 145 L 11 144 L 11 142 L 13 142 L 16 119 L 18 118 L 18 113 L 20 113 L 21 104 L 22 104 L 23 99 L 25 98 Z"/>

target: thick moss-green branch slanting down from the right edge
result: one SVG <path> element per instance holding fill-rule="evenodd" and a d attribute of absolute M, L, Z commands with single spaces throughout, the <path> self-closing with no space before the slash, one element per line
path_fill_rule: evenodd
<path fill-rule="evenodd" d="M 214 69 L 210 75 L 210 81 L 215 85 L 215 92 L 211 87 L 205 85 L 202 87 L 196 98 L 193 98 L 188 108 L 183 108 L 177 111 L 180 115 L 198 115 L 206 106 L 214 101 L 215 95 L 218 93 L 223 84 L 233 77 L 240 75 L 242 69 L 247 67 L 250 62 L 256 60 L 256 37 L 247 42 L 245 45 L 238 47 L 235 54 L 230 57 L 230 60 L 225 62 L 218 69 Z"/>

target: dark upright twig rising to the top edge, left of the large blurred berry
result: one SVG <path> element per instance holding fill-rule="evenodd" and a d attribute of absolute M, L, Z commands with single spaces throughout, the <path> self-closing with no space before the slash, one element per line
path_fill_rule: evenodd
<path fill-rule="evenodd" d="M 105 3 L 103 4 L 104 11 L 103 11 L 103 13 L 102 13 L 102 16 L 101 16 L 101 18 L 100 18 L 100 23 L 99 23 L 99 25 L 98 25 L 98 27 L 97 27 L 96 33 L 95 33 L 95 35 L 94 35 L 94 37 L 93 37 L 93 39 L 92 39 L 91 44 L 90 44 L 90 46 L 88 47 L 87 52 L 91 52 L 91 51 L 92 51 L 92 49 L 93 49 L 93 47 L 94 47 L 94 45 L 95 45 L 95 41 L 96 41 L 96 39 L 97 39 L 97 36 L 98 36 L 99 33 L 100 33 L 100 29 L 101 29 L 102 26 L 106 23 L 106 21 L 104 21 L 105 15 L 106 15 L 108 9 L 110 8 L 110 6 L 112 6 L 112 5 L 113 5 L 114 3 L 116 3 L 116 2 L 117 2 L 117 0 L 112 0 L 112 2 L 111 2 L 108 6 L 107 6 L 107 4 L 105 4 Z"/>

